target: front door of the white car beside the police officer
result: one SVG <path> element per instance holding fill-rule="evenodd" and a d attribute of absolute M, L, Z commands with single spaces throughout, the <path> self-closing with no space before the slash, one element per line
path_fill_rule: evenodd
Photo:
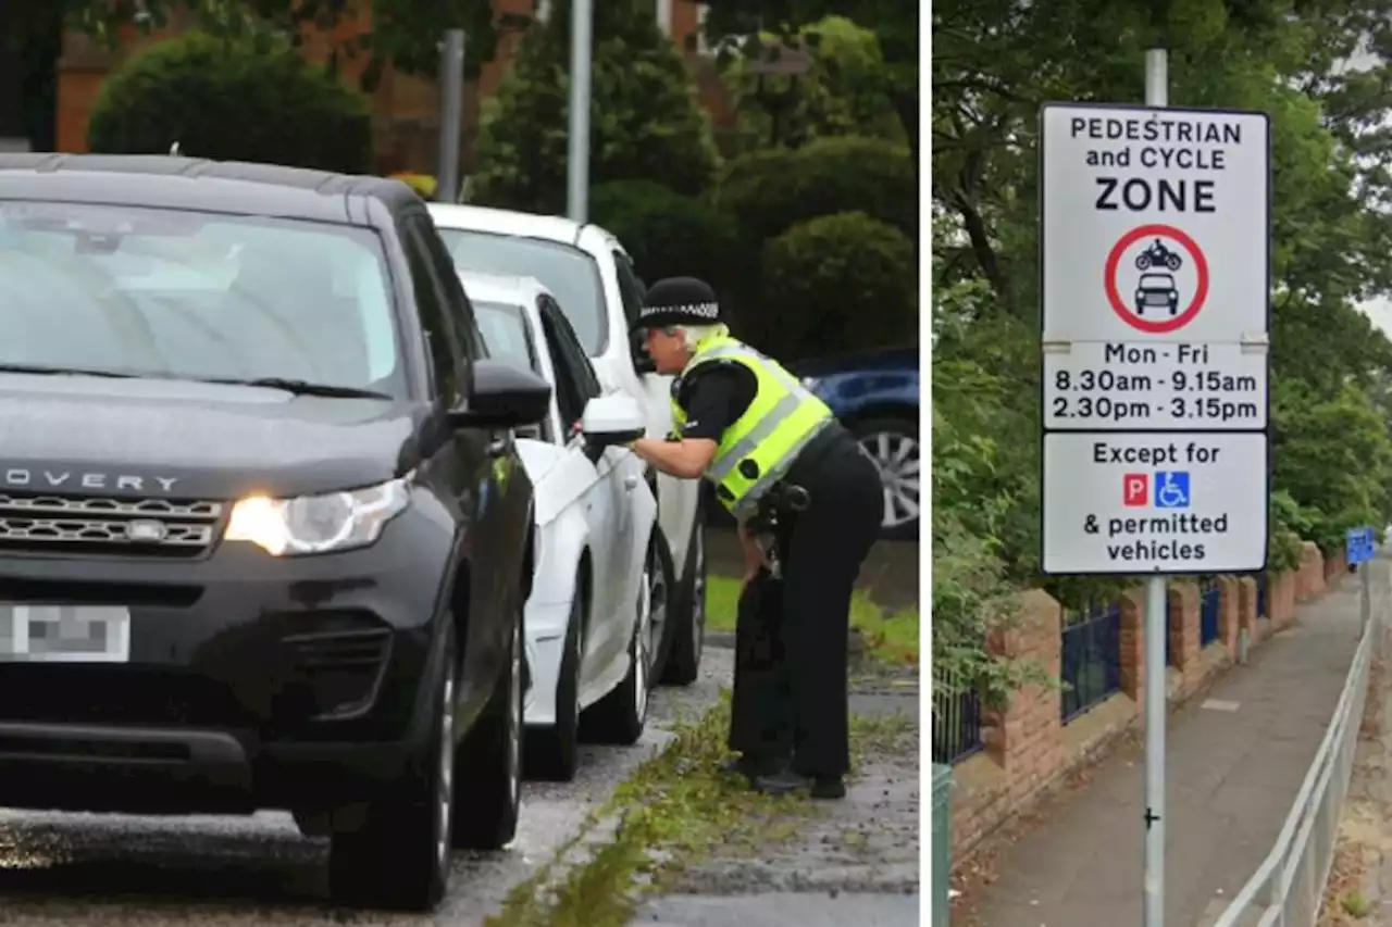
<path fill-rule="evenodd" d="M 585 678 L 607 667 L 617 653 L 628 646 L 614 626 L 618 607 L 618 573 L 624 561 L 617 557 L 622 505 L 614 487 L 614 468 L 608 448 L 596 452 L 585 445 L 585 438 L 576 429 L 585 413 L 585 404 L 599 395 L 599 384 L 593 370 L 586 374 L 585 352 L 555 301 L 541 296 L 537 301 L 541 320 L 541 335 L 546 338 L 551 365 L 555 370 L 555 398 L 561 413 L 561 426 L 568 431 L 567 454 L 583 459 L 593 477 L 585 486 L 578 504 L 583 505 L 585 523 L 590 534 L 590 564 L 593 571 L 593 594 L 590 603 L 590 626 L 585 642 Z M 571 465 L 578 466 L 578 461 Z"/>

